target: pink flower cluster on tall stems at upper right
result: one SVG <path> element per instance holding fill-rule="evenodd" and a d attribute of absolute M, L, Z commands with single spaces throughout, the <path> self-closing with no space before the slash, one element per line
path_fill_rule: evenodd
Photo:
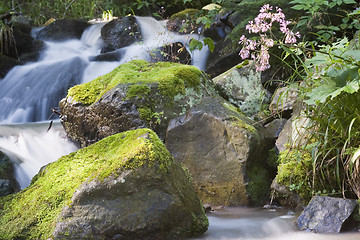
<path fill-rule="evenodd" d="M 269 48 L 274 46 L 275 42 L 273 39 L 268 38 L 266 33 L 269 30 L 271 31 L 274 22 L 279 23 L 280 31 L 285 34 L 285 43 L 296 43 L 296 37 L 300 37 L 299 32 L 294 33 L 288 28 L 291 21 L 285 20 L 285 15 L 281 8 L 276 7 L 275 12 L 271 12 L 272 10 L 272 6 L 265 4 L 261 7 L 259 15 L 253 21 L 249 21 L 249 24 L 246 25 L 246 30 L 248 30 L 249 33 L 258 33 L 260 35 L 260 40 L 247 39 L 244 35 L 240 38 L 239 43 L 243 45 L 243 48 L 239 54 L 242 59 L 251 56 L 255 62 L 256 71 L 264 71 L 270 68 Z M 250 55 L 250 51 L 255 52 Z"/>

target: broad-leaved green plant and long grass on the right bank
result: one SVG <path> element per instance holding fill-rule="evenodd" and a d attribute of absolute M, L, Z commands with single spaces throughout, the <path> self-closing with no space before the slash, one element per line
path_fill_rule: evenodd
<path fill-rule="evenodd" d="M 357 38 L 358 39 L 358 36 Z M 360 197 L 360 45 L 344 38 L 305 62 L 311 81 L 303 89 L 317 145 L 314 174 L 324 186 Z M 335 179 L 335 181 L 334 181 Z"/>

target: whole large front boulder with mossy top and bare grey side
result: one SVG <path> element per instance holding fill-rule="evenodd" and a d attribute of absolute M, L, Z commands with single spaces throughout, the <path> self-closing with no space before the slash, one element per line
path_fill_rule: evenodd
<path fill-rule="evenodd" d="M 61 157 L 0 199 L 1 239 L 179 239 L 207 226 L 186 174 L 150 129 Z"/>

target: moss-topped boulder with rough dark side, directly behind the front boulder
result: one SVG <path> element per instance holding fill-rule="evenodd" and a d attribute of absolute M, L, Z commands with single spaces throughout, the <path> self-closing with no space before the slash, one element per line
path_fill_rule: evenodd
<path fill-rule="evenodd" d="M 69 89 L 61 120 L 81 146 L 144 126 L 164 138 L 170 119 L 214 94 L 210 83 L 194 66 L 134 60 Z"/>

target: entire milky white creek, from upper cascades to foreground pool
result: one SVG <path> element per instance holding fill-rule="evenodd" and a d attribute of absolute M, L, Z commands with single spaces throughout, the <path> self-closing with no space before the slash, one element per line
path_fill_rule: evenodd
<path fill-rule="evenodd" d="M 37 62 L 16 66 L 0 79 L 0 150 L 13 161 L 22 189 L 42 166 L 77 149 L 66 139 L 59 120 L 48 120 L 51 109 L 58 106 L 71 86 L 110 72 L 121 63 L 149 59 L 149 50 L 166 43 L 182 42 L 188 47 L 191 37 L 199 38 L 170 33 L 164 22 L 152 18 L 137 17 L 137 21 L 143 41 L 122 49 L 125 54 L 118 62 L 90 60 L 101 50 L 103 23 L 98 23 L 89 27 L 80 40 L 45 41 L 46 49 Z M 207 54 L 206 47 L 191 53 L 192 64 L 204 69 Z M 208 216 L 209 230 L 199 239 L 360 239 L 360 234 L 323 236 L 297 232 L 294 215 L 283 210 L 224 208 Z"/>

